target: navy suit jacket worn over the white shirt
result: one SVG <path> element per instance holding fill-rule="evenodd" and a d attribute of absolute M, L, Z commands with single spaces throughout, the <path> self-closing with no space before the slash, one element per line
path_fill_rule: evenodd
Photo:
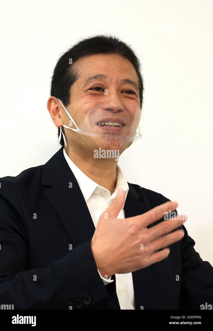
<path fill-rule="evenodd" d="M 98 274 L 90 246 L 95 227 L 63 148 L 45 165 L 0 178 L 0 183 L 0 304 L 15 309 L 120 309 L 115 281 L 105 286 Z M 169 201 L 128 185 L 126 218 Z M 181 228 L 185 235 L 169 246 L 166 259 L 132 272 L 137 309 L 213 305 L 213 267 Z"/>

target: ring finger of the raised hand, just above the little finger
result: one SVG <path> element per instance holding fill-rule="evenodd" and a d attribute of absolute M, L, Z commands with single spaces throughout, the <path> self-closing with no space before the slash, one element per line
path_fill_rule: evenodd
<path fill-rule="evenodd" d="M 147 246 L 147 249 L 150 249 L 152 252 L 155 252 L 161 248 L 165 248 L 181 240 L 184 236 L 184 233 L 185 233 L 184 230 L 177 230 L 175 232 L 166 234 L 165 236 L 162 236 L 159 239 L 150 243 Z"/>

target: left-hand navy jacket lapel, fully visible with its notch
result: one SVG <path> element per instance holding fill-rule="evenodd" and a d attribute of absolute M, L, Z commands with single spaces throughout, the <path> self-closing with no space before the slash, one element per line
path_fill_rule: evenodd
<path fill-rule="evenodd" d="M 61 148 L 45 165 L 42 184 L 53 186 L 47 199 L 56 211 L 74 247 L 92 239 L 95 226 L 78 182 Z"/>

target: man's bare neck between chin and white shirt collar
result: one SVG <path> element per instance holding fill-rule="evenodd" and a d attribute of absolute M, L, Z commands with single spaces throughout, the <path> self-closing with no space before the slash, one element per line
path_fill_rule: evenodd
<path fill-rule="evenodd" d="M 98 185 L 105 187 L 111 194 L 115 191 L 118 161 L 115 159 L 94 159 L 77 154 L 70 146 L 64 149 L 72 162 Z"/>

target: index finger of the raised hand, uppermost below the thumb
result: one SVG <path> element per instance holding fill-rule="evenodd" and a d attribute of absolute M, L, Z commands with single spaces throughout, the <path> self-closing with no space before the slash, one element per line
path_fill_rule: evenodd
<path fill-rule="evenodd" d="M 134 218 L 141 222 L 143 227 L 146 227 L 147 225 L 150 225 L 155 221 L 161 219 L 166 213 L 169 213 L 170 211 L 173 212 L 177 208 L 177 206 L 178 203 L 176 201 L 168 201 L 149 210 L 142 215 L 134 216 Z"/>

